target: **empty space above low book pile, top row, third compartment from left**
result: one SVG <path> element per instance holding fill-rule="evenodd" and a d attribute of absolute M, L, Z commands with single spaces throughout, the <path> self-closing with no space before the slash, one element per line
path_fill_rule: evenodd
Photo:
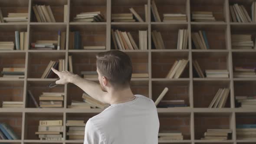
<path fill-rule="evenodd" d="M 107 0 L 94 0 L 94 1 L 85 1 L 85 0 L 73 0 L 70 1 L 70 22 L 73 21 L 79 13 L 87 12 L 96 12 L 100 11 L 104 16 L 104 22 L 107 18 Z M 79 23 L 79 22 L 75 22 Z"/>

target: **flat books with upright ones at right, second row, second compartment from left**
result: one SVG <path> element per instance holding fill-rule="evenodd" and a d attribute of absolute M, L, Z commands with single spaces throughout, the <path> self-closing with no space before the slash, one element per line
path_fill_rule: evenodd
<path fill-rule="evenodd" d="M 37 40 L 36 43 L 31 43 L 30 49 L 63 50 L 66 48 L 66 32 L 58 31 L 58 40 Z"/>

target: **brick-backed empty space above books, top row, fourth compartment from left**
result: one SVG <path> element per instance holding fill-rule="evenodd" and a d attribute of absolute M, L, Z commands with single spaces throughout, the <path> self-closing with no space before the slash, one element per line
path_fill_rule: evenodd
<path fill-rule="evenodd" d="M 131 7 L 138 13 L 141 19 L 145 22 L 145 8 L 144 5 L 148 4 L 148 0 L 112 0 L 111 13 L 131 13 Z M 149 7 L 149 5 L 148 5 Z M 150 13 L 148 12 L 148 16 Z M 135 18 L 134 18 L 135 19 Z"/>

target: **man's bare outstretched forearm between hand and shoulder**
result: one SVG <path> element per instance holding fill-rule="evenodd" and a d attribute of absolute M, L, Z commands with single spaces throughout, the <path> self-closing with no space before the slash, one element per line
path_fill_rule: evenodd
<path fill-rule="evenodd" d="M 96 82 L 89 81 L 87 79 L 81 78 L 79 75 L 73 76 L 69 82 L 77 85 L 84 92 L 90 95 L 92 98 L 95 98 L 98 101 L 106 103 L 103 97 L 107 94 L 107 92 L 103 92 L 100 85 Z"/>

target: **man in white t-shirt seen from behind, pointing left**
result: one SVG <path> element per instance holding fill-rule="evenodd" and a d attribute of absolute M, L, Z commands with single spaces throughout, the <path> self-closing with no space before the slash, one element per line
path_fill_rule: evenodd
<path fill-rule="evenodd" d="M 68 71 L 59 72 L 56 84 L 73 83 L 108 108 L 85 125 L 84 144 L 158 144 L 159 119 L 154 101 L 131 92 L 131 59 L 111 50 L 96 56 L 98 80 L 83 79 Z"/>

